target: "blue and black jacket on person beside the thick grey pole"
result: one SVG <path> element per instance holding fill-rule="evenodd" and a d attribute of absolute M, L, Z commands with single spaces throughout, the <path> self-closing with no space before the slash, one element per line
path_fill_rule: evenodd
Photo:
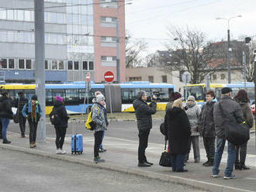
<path fill-rule="evenodd" d="M 42 116 L 42 109 L 38 101 L 36 101 L 36 115 L 33 118 L 32 114 L 32 104 L 29 101 L 24 107 L 22 108 L 22 115 L 24 118 L 27 118 L 29 122 L 39 122 L 40 117 Z"/>

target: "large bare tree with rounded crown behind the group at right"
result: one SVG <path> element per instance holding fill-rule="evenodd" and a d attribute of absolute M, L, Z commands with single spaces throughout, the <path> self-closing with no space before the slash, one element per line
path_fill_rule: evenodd
<path fill-rule="evenodd" d="M 168 46 L 171 61 L 164 62 L 164 70 L 187 70 L 192 74 L 191 83 L 200 83 L 206 74 L 213 74 L 214 47 L 209 46 L 204 33 L 198 30 L 174 28 L 168 29 L 172 41 Z"/>

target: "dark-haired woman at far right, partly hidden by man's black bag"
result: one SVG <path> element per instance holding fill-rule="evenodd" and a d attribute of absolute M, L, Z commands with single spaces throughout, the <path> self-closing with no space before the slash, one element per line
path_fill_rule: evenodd
<path fill-rule="evenodd" d="M 238 93 L 234 96 L 234 100 L 242 108 L 245 125 L 247 125 L 248 132 L 254 125 L 254 115 L 252 115 L 251 108 L 250 108 L 250 99 L 248 98 L 247 91 L 244 89 L 240 89 Z M 236 153 L 236 161 L 235 161 L 235 169 L 236 170 L 249 170 L 250 167 L 245 166 L 245 159 L 247 154 L 247 142 L 245 142 L 241 146 L 237 146 L 237 153 Z M 239 158 L 240 157 L 240 158 Z"/>

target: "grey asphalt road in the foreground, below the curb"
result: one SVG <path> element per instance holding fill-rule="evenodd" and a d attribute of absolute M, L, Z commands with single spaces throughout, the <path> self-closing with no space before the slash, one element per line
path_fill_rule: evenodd
<path fill-rule="evenodd" d="M 175 183 L 100 170 L 0 149 L 0 191 L 202 191 Z"/>

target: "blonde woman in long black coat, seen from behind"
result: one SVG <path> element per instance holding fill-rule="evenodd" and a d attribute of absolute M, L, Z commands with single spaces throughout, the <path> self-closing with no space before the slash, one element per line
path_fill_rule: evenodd
<path fill-rule="evenodd" d="M 172 170 L 186 172 L 184 169 L 185 154 L 189 153 L 191 129 L 189 118 L 183 110 L 182 99 L 176 99 L 171 109 L 164 117 L 164 127 L 167 128 L 171 155 Z"/>

